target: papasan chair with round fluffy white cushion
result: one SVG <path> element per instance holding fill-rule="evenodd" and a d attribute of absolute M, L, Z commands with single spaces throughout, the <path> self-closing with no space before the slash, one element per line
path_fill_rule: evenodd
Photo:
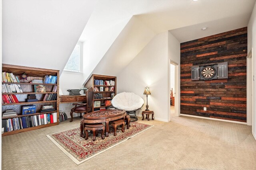
<path fill-rule="evenodd" d="M 123 109 L 126 110 L 126 113 L 128 115 L 134 114 L 135 120 L 131 121 L 137 121 L 138 118 L 136 117 L 136 111 L 139 110 L 144 104 L 144 100 L 138 96 L 137 94 L 134 94 L 132 92 L 122 92 L 114 96 L 112 99 L 112 105 L 117 109 Z"/>

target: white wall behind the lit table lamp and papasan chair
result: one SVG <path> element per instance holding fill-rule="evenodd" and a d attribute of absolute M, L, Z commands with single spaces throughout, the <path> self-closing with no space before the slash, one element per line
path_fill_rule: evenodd
<path fill-rule="evenodd" d="M 144 88 L 150 88 L 148 106 L 155 118 L 168 121 L 170 107 L 170 78 L 168 61 L 168 32 L 156 35 L 138 55 L 117 74 L 117 92 L 134 92 L 144 99 Z"/>

